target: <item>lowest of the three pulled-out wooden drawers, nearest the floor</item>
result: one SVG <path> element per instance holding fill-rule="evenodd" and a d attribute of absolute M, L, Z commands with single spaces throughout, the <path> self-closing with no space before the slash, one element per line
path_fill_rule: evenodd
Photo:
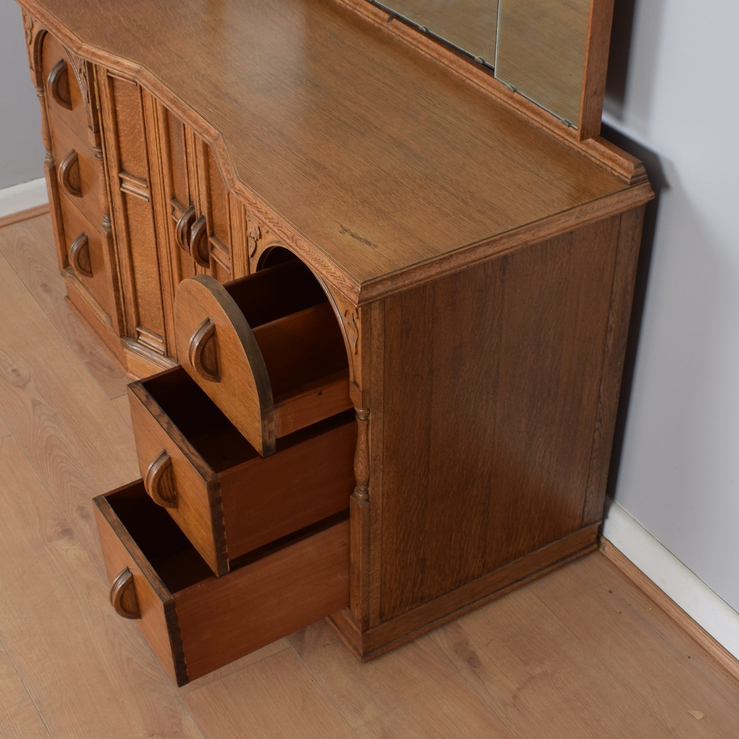
<path fill-rule="evenodd" d="M 273 542 L 215 577 L 140 481 L 94 503 L 111 602 L 134 619 L 178 685 L 349 602 L 345 513 Z"/>

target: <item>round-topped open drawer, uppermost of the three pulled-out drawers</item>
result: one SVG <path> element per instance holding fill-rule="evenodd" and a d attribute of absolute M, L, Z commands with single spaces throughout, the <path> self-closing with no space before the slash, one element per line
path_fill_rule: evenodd
<path fill-rule="evenodd" d="M 174 327 L 180 364 L 259 454 L 351 407 L 341 328 L 299 259 L 229 285 L 183 280 Z"/>

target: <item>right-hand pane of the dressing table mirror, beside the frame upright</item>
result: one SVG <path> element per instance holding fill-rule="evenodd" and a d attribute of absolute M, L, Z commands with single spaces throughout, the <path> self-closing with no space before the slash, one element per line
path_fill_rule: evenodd
<path fill-rule="evenodd" d="M 495 76 L 577 125 L 590 0 L 500 0 Z"/>

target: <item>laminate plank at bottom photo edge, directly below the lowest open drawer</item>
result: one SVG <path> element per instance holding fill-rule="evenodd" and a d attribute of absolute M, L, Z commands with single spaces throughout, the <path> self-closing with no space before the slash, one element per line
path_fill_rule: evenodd
<path fill-rule="evenodd" d="M 183 702 L 206 738 L 356 738 L 291 649 L 189 692 Z"/>

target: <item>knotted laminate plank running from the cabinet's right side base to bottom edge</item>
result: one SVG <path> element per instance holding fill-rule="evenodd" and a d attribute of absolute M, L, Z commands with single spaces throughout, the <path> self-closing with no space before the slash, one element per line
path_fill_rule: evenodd
<path fill-rule="evenodd" d="M 522 739 L 672 737 L 528 588 L 430 636 Z"/>

